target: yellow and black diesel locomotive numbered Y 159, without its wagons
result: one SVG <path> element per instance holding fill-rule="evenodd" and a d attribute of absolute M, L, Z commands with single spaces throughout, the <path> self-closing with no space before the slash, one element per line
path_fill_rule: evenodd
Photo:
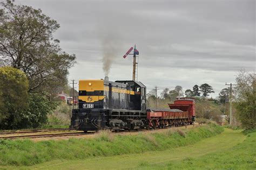
<path fill-rule="evenodd" d="M 133 130 L 147 125 L 146 87 L 137 81 L 80 80 L 79 108 L 71 126 L 77 130 Z"/>

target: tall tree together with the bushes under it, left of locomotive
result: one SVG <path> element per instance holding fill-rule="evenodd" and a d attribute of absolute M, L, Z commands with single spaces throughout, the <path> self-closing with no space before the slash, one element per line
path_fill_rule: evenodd
<path fill-rule="evenodd" d="M 42 10 L 1 2 L 0 129 L 38 128 L 56 108 L 76 56 L 62 51 L 60 27 Z"/>

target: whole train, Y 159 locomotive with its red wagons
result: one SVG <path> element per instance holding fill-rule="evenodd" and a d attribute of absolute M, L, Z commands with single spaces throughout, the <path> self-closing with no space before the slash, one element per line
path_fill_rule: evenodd
<path fill-rule="evenodd" d="M 72 110 L 71 127 L 82 131 L 138 130 L 191 124 L 194 99 L 179 98 L 169 110 L 151 110 L 146 87 L 138 81 L 79 80 L 78 109 Z"/>

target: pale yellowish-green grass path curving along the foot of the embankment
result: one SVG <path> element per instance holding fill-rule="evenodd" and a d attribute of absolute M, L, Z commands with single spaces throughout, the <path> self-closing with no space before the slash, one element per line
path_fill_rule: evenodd
<path fill-rule="evenodd" d="M 177 147 L 171 150 L 126 154 L 113 157 L 98 157 L 84 160 L 55 160 L 32 166 L 32 169 L 134 169 L 143 164 L 159 164 L 184 158 L 197 158 L 208 153 L 225 151 L 246 137 L 240 131 L 225 129 L 215 137 L 199 141 L 194 145 Z M 234 140 L 235 139 L 235 140 Z M 24 167 L 28 168 L 28 167 Z"/>

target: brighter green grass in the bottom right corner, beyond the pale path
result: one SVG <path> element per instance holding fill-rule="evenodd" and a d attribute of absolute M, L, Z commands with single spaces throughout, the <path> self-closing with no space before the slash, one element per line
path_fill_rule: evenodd
<path fill-rule="evenodd" d="M 239 140 L 233 137 L 233 140 Z M 230 145 L 230 144 L 227 144 Z M 189 165 L 189 166 L 188 166 Z M 139 165 L 138 169 L 256 169 L 256 132 L 249 133 L 244 142 L 228 150 L 206 154 L 198 158 L 186 156 L 164 164 Z"/>

